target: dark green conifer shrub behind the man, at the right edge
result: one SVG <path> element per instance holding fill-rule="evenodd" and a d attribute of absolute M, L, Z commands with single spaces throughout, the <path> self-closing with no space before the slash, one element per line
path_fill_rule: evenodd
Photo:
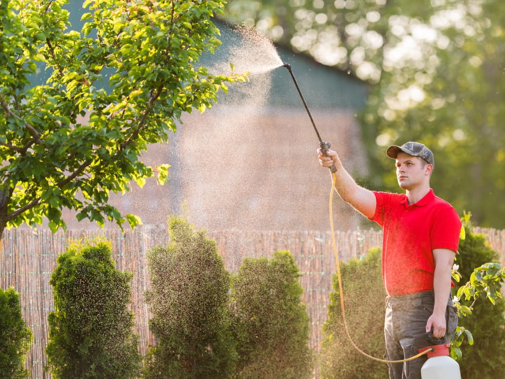
<path fill-rule="evenodd" d="M 459 265 L 462 283 L 470 280 L 475 267 L 487 262 L 498 261 L 483 235 L 470 233 L 467 220 L 466 238 L 460 241 L 456 263 Z M 469 306 L 473 300 L 460 300 Z M 470 330 L 474 344 L 463 344 L 460 368 L 467 379 L 494 379 L 505 374 L 505 302 L 496 299 L 493 305 L 485 297 L 478 298 L 471 315 L 460 317 L 459 325 Z"/>

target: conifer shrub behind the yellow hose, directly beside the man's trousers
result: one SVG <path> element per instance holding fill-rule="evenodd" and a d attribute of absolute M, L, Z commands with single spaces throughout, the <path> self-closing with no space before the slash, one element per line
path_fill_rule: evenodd
<path fill-rule="evenodd" d="M 363 260 L 340 263 L 344 311 L 349 334 L 369 355 L 382 358 L 384 343 L 384 285 L 381 276 L 381 250 L 372 249 Z M 328 320 L 323 327 L 321 377 L 325 379 L 387 379 L 385 363 L 364 357 L 352 347 L 344 329 L 338 278 L 333 280 Z"/>

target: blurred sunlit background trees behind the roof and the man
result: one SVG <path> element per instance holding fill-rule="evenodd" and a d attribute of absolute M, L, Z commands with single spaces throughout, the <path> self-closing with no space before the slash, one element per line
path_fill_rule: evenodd
<path fill-rule="evenodd" d="M 385 148 L 418 140 L 435 155 L 435 193 L 505 228 L 505 2 L 229 0 L 225 18 L 370 83 L 363 185 L 397 191 Z"/>

